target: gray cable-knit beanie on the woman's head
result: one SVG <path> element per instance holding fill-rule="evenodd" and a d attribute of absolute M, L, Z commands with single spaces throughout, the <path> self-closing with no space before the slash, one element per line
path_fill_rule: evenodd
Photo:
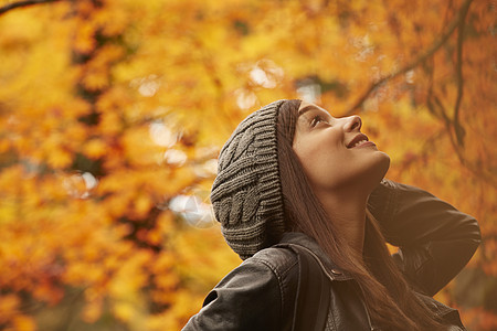
<path fill-rule="evenodd" d="M 211 191 L 215 218 L 230 247 L 246 259 L 285 229 L 274 102 L 251 114 L 221 149 Z"/>

